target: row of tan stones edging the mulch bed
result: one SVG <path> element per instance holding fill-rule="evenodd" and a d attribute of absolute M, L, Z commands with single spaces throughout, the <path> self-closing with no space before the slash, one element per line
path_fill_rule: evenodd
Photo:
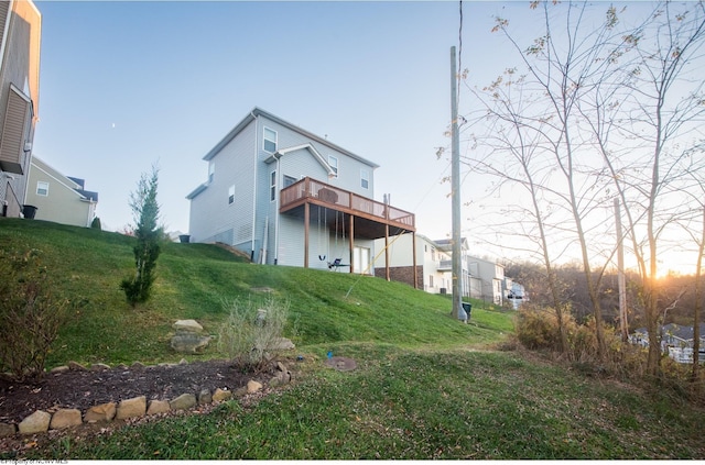
<path fill-rule="evenodd" d="M 182 361 L 183 363 L 184 361 Z M 57 367 L 55 370 L 72 369 L 69 366 Z M 83 369 L 85 369 L 82 366 Z M 100 367 L 93 366 L 93 369 L 109 369 L 108 365 Z M 73 369 L 77 369 L 74 367 Z M 270 387 L 278 387 L 291 381 L 291 372 L 286 366 L 278 362 L 276 374 L 270 379 Z M 188 410 L 197 406 L 207 403 L 218 403 L 230 400 L 234 397 L 242 397 L 248 394 L 258 392 L 263 389 L 261 383 L 250 379 L 247 386 L 242 386 L 235 391 L 217 388 L 214 392 L 203 389 L 200 392 L 184 392 L 171 400 L 150 400 L 148 402 L 145 396 L 134 397 L 132 399 L 121 400 L 119 403 L 107 402 L 90 407 L 82 416 L 78 409 L 58 409 L 53 414 L 43 410 L 36 410 L 34 413 L 25 417 L 20 423 L 0 423 L 0 438 L 11 436 L 15 433 L 36 434 L 45 433 L 48 430 L 62 430 L 65 428 L 77 427 L 83 423 L 111 422 L 113 420 L 126 420 L 130 418 L 141 418 L 165 413 L 173 410 Z"/>

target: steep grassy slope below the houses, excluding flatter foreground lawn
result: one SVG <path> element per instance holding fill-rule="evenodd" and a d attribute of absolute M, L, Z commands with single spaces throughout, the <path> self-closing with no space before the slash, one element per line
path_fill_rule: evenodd
<path fill-rule="evenodd" d="M 274 298 L 290 306 L 297 346 L 384 342 L 401 346 L 482 344 L 511 331 L 510 313 L 476 303 L 471 323 L 449 318 L 447 297 L 375 277 L 253 265 L 208 244 L 165 243 L 153 298 L 132 309 L 119 288 L 133 273 L 134 239 L 43 221 L 0 219 L 0 248 L 37 248 L 55 288 L 70 301 L 48 366 L 68 359 L 107 364 L 178 359 L 171 325 L 195 319 L 212 334 L 224 302 Z M 220 357 L 209 347 L 202 357 Z"/>

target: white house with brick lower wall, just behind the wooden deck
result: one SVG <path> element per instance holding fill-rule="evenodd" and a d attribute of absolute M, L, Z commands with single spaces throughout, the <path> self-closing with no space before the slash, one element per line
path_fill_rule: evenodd
<path fill-rule="evenodd" d="M 451 294 L 451 274 L 441 266 L 451 261 L 451 255 L 424 235 L 415 235 L 415 245 L 412 244 L 413 240 L 410 234 L 393 237 L 389 241 L 387 251 L 383 240 L 376 241 L 375 250 L 379 251 L 379 258 L 375 262 L 375 276 L 384 276 L 389 258 L 390 279 L 413 286 L 414 257 L 411 251 L 415 250 L 416 288 L 431 294 Z"/>

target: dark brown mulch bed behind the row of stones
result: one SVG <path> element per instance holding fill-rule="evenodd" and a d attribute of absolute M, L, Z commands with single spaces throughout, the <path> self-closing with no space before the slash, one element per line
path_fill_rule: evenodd
<path fill-rule="evenodd" d="M 111 368 L 101 372 L 68 370 L 46 374 L 33 385 L 0 377 L 0 423 L 19 423 L 36 410 L 79 409 L 145 396 L 172 400 L 203 389 L 235 390 L 260 378 L 235 369 L 229 361 L 194 362 L 184 365 Z"/>

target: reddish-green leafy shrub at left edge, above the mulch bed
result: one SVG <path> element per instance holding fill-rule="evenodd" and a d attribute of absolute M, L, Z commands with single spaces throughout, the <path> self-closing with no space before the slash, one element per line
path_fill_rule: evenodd
<path fill-rule="evenodd" d="M 0 253 L 0 368 L 39 379 L 66 319 L 68 301 L 52 295 L 40 252 Z"/>

